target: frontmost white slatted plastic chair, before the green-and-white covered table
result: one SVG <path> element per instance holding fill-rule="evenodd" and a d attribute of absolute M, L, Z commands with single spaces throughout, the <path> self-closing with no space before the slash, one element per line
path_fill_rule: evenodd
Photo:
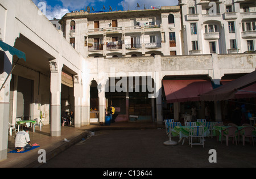
<path fill-rule="evenodd" d="M 199 141 L 193 142 L 193 138 L 199 139 Z M 192 126 L 189 131 L 188 140 L 191 148 L 193 145 L 202 145 L 204 147 L 204 126 Z"/>

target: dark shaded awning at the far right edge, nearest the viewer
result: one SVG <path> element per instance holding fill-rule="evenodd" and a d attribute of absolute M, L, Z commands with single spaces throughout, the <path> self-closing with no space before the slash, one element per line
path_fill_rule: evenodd
<path fill-rule="evenodd" d="M 226 84 L 224 84 L 226 83 Z M 200 96 L 203 101 L 256 97 L 256 70 Z M 243 91 L 239 91 L 243 90 Z M 250 91 L 250 92 L 249 92 Z"/>

